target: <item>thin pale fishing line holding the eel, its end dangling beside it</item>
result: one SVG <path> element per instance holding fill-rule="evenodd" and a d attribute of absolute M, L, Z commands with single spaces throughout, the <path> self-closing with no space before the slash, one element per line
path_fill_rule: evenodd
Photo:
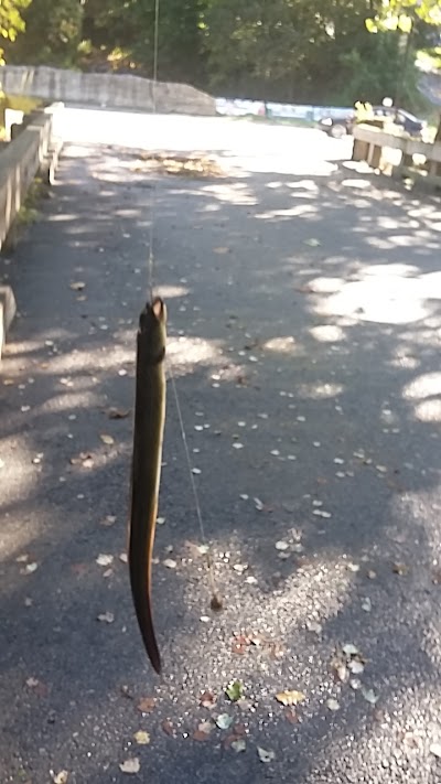
<path fill-rule="evenodd" d="M 152 79 L 153 117 L 157 116 L 159 19 L 160 19 L 160 0 L 154 0 L 153 79 Z M 154 262 L 155 262 L 155 255 L 154 255 L 155 196 L 157 196 L 157 179 L 154 178 L 153 186 L 151 187 L 151 191 L 150 191 L 150 239 L 149 239 L 149 259 L 148 259 L 148 290 L 149 290 L 149 296 L 150 296 L 151 302 L 153 301 L 153 284 L 154 284 L 153 278 L 154 278 Z M 216 591 L 216 584 L 215 584 L 215 579 L 214 579 L 214 573 L 213 573 L 213 563 L 212 563 L 212 558 L 209 555 L 209 545 L 207 544 L 207 539 L 205 536 L 205 528 L 204 528 L 204 522 L 203 522 L 202 512 L 201 512 L 200 497 L 198 497 L 196 482 L 195 482 L 193 470 L 192 470 L 192 461 L 191 461 L 189 444 L 187 444 L 187 440 L 186 440 L 184 420 L 182 417 L 182 410 L 181 410 L 181 405 L 179 401 L 178 388 L 176 388 L 176 384 L 174 380 L 174 375 L 173 375 L 173 369 L 171 367 L 171 364 L 168 365 L 168 373 L 169 373 L 169 377 L 170 377 L 172 388 L 173 388 L 173 397 L 174 397 L 175 405 L 176 405 L 178 420 L 179 420 L 180 430 L 181 430 L 182 443 L 184 445 L 184 452 L 185 452 L 185 459 L 186 459 L 187 469 L 189 469 L 190 482 L 192 485 L 193 497 L 194 497 L 194 506 L 196 509 L 196 517 L 197 517 L 200 530 L 201 530 L 201 538 L 202 538 L 202 541 L 204 545 L 204 549 L 206 550 L 206 554 L 205 554 L 206 555 L 206 562 L 207 562 L 209 582 L 211 582 L 211 588 L 212 588 L 211 608 L 212 608 L 212 610 L 220 610 L 222 602 L 220 602 L 217 591 Z"/>

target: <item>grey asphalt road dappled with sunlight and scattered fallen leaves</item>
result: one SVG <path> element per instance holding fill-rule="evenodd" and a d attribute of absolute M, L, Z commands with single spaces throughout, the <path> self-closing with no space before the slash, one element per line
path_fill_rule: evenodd
<path fill-rule="evenodd" d="M 157 118 L 152 148 L 203 148 L 209 125 L 228 175 L 154 175 L 131 117 L 119 150 L 66 115 L 75 143 L 1 266 L 21 313 L 0 384 L 1 782 L 439 784 L 439 203 L 319 132 L 228 120 Z M 121 559 L 153 192 L 224 598 L 213 613 L 170 390 L 161 678 Z"/>

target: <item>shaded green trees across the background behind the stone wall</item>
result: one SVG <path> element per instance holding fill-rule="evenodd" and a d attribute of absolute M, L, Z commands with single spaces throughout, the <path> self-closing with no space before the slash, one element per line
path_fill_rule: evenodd
<path fill-rule="evenodd" d="M 151 76 L 155 0 L 8 2 L 25 24 L 6 41 L 9 62 Z M 160 0 L 159 78 L 226 96 L 378 101 L 395 93 L 402 33 L 430 37 L 440 23 L 441 0 Z"/>

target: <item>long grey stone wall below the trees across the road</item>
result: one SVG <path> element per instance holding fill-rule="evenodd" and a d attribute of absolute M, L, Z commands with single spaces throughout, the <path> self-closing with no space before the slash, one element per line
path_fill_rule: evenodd
<path fill-rule="evenodd" d="M 28 95 L 45 101 L 86 104 L 153 111 L 153 82 L 131 74 L 87 74 L 43 65 L 6 65 L 0 83 L 9 95 Z M 214 98 L 184 84 L 158 82 L 155 110 L 161 114 L 215 115 Z"/>

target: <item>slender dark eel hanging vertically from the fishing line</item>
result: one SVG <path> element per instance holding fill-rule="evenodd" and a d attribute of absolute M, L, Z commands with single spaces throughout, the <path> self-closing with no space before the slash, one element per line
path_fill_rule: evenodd
<path fill-rule="evenodd" d="M 133 457 L 128 561 L 139 629 L 159 674 L 161 658 L 151 611 L 151 573 L 165 422 L 166 309 L 157 297 L 147 303 L 137 335 Z"/>

